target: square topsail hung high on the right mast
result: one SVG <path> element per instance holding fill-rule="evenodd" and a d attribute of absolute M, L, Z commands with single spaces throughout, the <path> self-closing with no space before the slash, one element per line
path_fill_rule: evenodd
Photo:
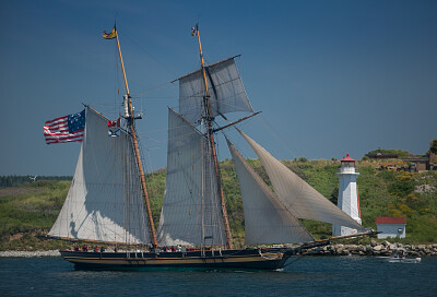
<path fill-rule="evenodd" d="M 205 69 L 211 109 L 214 117 L 234 111 L 253 111 L 234 58 L 209 66 Z M 200 123 L 202 118 L 204 95 L 204 79 L 201 70 L 179 79 L 179 112 L 196 126 Z"/>

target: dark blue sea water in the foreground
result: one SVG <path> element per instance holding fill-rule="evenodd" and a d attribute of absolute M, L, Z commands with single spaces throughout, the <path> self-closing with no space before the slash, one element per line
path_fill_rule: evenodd
<path fill-rule="evenodd" d="M 283 271 L 74 271 L 61 258 L 0 259 L 0 296 L 437 296 L 437 258 L 302 257 Z"/>

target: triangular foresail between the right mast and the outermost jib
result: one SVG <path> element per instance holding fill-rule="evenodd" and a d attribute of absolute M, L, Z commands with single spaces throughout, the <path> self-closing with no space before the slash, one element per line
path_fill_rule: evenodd
<path fill-rule="evenodd" d="M 296 243 L 314 237 L 294 217 L 261 177 L 227 141 L 241 189 L 245 210 L 245 243 Z"/>

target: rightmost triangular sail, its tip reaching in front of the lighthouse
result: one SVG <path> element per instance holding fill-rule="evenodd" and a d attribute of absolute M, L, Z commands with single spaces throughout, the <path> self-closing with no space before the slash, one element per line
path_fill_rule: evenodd
<path fill-rule="evenodd" d="M 275 194 L 294 216 L 346 226 L 361 231 L 365 230 L 362 225 L 274 158 L 261 145 L 243 131 L 238 130 L 238 132 L 260 158 Z"/>

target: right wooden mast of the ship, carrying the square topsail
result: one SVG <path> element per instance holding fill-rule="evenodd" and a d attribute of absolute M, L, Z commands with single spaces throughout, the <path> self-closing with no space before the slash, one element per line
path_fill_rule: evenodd
<path fill-rule="evenodd" d="M 199 27 L 196 25 L 196 31 L 198 35 L 198 43 L 199 43 L 199 52 L 200 52 L 200 61 L 202 63 L 202 73 L 203 73 L 203 82 L 205 86 L 205 96 L 204 96 L 204 103 L 205 103 L 205 112 L 206 112 L 206 123 L 208 123 L 208 140 L 210 141 L 211 148 L 212 148 L 212 158 L 214 163 L 214 169 L 215 169 L 215 176 L 217 180 L 217 190 L 220 194 L 220 200 L 222 204 L 222 216 L 223 216 L 223 223 L 225 227 L 225 235 L 226 235 L 226 243 L 228 249 L 234 249 L 234 243 L 232 239 L 232 234 L 231 234 L 231 228 L 229 228 L 229 221 L 227 218 L 227 210 L 226 210 L 226 203 L 225 203 L 225 195 L 223 193 L 223 187 L 221 182 L 221 175 L 220 175 L 220 168 L 218 168 L 218 161 L 217 161 L 217 154 L 215 151 L 215 142 L 214 142 L 214 133 L 212 129 L 212 107 L 211 107 L 211 102 L 210 102 L 210 93 L 208 90 L 208 81 L 206 81 L 206 70 L 204 66 L 204 60 L 203 60 L 203 51 L 202 51 L 202 44 L 200 41 L 200 33 L 199 33 Z"/>

